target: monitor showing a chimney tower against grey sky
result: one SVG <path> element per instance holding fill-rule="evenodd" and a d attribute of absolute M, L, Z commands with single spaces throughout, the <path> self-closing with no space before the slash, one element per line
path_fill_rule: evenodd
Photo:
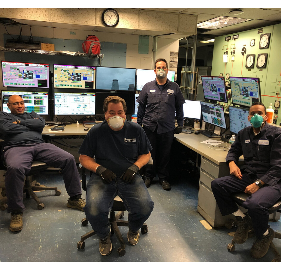
<path fill-rule="evenodd" d="M 135 91 L 135 85 L 135 68 L 97 67 L 97 90 Z"/>

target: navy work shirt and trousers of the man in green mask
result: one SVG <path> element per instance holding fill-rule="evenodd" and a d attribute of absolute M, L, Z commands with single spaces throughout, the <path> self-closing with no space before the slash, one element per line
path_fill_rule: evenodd
<path fill-rule="evenodd" d="M 280 128 L 266 123 L 256 136 L 252 126 L 243 129 L 226 157 L 227 163 L 234 161 L 238 164 L 240 156 L 244 156 L 246 170 L 242 180 L 226 176 L 212 182 L 213 194 L 223 216 L 238 211 L 238 206 L 230 197 L 232 193 L 244 192 L 257 179 L 266 183 L 243 203 L 252 218 L 255 235 L 260 240 L 268 228 L 268 209 L 281 197 L 280 147 Z"/>

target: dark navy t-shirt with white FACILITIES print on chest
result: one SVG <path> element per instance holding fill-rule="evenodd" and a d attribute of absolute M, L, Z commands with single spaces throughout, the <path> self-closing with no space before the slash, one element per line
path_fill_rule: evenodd
<path fill-rule="evenodd" d="M 126 120 L 122 130 L 113 131 L 104 121 L 91 128 L 78 153 L 95 158 L 98 164 L 121 177 L 138 156 L 151 149 L 140 125 Z"/>

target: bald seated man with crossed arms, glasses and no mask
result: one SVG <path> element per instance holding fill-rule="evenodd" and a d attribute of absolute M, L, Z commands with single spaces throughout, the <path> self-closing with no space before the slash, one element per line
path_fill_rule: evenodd
<path fill-rule="evenodd" d="M 35 112 L 25 113 L 25 104 L 20 96 L 11 96 L 8 108 L 11 113 L 0 112 L 0 137 L 5 140 L 5 187 L 8 213 L 12 213 L 10 230 L 18 232 L 23 229 L 24 177 L 35 160 L 62 169 L 65 188 L 70 196 L 67 207 L 84 211 L 85 202 L 81 199 L 80 175 L 74 157 L 50 143 L 44 143 L 42 131 L 45 119 Z"/>

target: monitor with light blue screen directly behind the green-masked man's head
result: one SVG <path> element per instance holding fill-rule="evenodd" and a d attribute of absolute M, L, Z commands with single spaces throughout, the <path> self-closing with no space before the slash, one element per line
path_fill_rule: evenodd
<path fill-rule="evenodd" d="M 251 126 L 248 116 L 249 109 L 229 106 L 230 133 L 237 135 L 240 130 Z"/>

